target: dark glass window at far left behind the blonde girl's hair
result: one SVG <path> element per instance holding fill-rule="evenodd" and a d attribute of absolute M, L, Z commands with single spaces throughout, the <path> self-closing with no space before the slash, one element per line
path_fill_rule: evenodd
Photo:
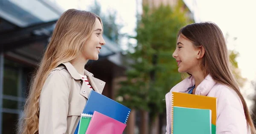
<path fill-rule="evenodd" d="M 23 109 L 33 67 L 4 59 L 3 100 L 2 100 L 2 132 L 16 134 L 19 113 Z M 20 99 L 23 98 L 23 99 Z"/>

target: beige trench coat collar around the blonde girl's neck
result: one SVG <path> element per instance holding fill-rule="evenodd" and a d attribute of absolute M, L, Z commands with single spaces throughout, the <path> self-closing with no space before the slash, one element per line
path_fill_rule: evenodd
<path fill-rule="evenodd" d="M 70 62 L 65 62 L 62 63 L 64 64 L 64 66 L 67 68 L 67 71 L 70 73 L 70 75 L 75 79 L 75 80 L 81 80 L 81 75 L 77 72 L 77 70 L 75 69 L 75 67 L 73 67 L 73 65 Z M 102 91 L 105 87 L 105 82 L 102 80 L 99 80 L 97 78 L 93 77 L 93 74 L 90 73 L 89 71 L 84 69 L 84 75 L 87 76 L 87 78 L 90 81 L 91 86 L 93 87 L 93 89 L 96 92 L 99 92 L 100 94 L 102 94 Z"/>

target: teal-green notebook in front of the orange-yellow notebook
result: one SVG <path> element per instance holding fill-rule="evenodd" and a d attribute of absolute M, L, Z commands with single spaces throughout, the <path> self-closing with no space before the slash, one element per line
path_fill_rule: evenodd
<path fill-rule="evenodd" d="M 209 109 L 173 106 L 173 134 L 212 134 Z"/>

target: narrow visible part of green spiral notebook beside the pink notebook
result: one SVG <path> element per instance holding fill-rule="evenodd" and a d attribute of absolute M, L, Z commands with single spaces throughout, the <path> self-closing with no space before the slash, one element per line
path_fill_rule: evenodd
<path fill-rule="evenodd" d="M 78 134 L 85 134 L 92 117 L 92 114 L 81 114 Z"/>

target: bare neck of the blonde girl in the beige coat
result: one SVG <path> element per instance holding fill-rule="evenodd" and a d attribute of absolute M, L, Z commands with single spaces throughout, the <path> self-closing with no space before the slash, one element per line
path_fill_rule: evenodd
<path fill-rule="evenodd" d="M 83 58 L 76 58 L 73 59 L 72 61 L 70 61 L 70 63 L 73 65 L 73 67 L 75 67 L 76 71 L 81 74 L 84 75 L 84 66 L 87 63 L 88 60 L 85 60 Z"/>

